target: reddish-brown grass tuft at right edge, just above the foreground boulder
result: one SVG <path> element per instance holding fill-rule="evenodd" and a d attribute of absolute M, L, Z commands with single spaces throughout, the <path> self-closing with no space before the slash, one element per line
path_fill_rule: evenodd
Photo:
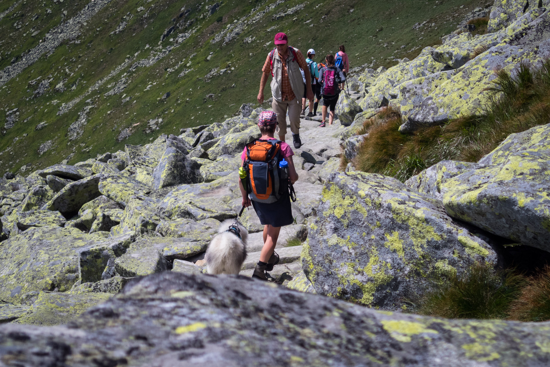
<path fill-rule="evenodd" d="M 521 296 L 514 301 L 510 319 L 518 321 L 550 320 L 550 267 L 530 279 Z"/>

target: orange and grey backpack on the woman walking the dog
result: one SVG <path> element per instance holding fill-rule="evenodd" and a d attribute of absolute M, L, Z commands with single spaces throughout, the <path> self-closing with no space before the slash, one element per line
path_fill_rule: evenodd
<path fill-rule="evenodd" d="M 243 166 L 248 177 L 247 191 L 251 200 L 271 203 L 281 199 L 279 160 L 281 140 L 257 139 L 246 145 Z"/>

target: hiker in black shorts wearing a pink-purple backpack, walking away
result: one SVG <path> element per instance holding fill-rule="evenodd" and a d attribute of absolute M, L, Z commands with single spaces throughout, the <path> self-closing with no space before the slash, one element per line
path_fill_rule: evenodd
<path fill-rule="evenodd" d="M 323 122 L 319 125 L 320 128 L 326 126 L 327 108 L 330 108 L 328 124 L 332 125 L 334 120 L 334 109 L 340 96 L 339 84 L 345 81 L 344 73 L 341 69 L 334 65 L 334 56 L 327 55 L 325 59 L 327 65 L 319 71 L 319 81 L 321 83 L 321 95 L 323 97 Z"/>

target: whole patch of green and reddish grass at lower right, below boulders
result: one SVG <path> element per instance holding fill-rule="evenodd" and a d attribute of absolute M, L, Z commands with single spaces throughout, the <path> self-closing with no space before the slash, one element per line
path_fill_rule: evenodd
<path fill-rule="evenodd" d="M 408 311 L 449 319 L 550 320 L 550 267 L 527 277 L 476 264 L 461 277 L 434 283 Z"/>

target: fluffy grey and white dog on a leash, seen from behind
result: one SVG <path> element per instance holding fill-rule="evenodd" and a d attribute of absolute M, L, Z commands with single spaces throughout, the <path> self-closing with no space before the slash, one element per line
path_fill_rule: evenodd
<path fill-rule="evenodd" d="M 228 219 L 219 226 L 218 234 L 212 238 L 206 249 L 206 268 L 209 274 L 238 274 L 246 259 L 248 231 L 238 224 L 240 238 L 228 232 L 235 221 Z"/>

